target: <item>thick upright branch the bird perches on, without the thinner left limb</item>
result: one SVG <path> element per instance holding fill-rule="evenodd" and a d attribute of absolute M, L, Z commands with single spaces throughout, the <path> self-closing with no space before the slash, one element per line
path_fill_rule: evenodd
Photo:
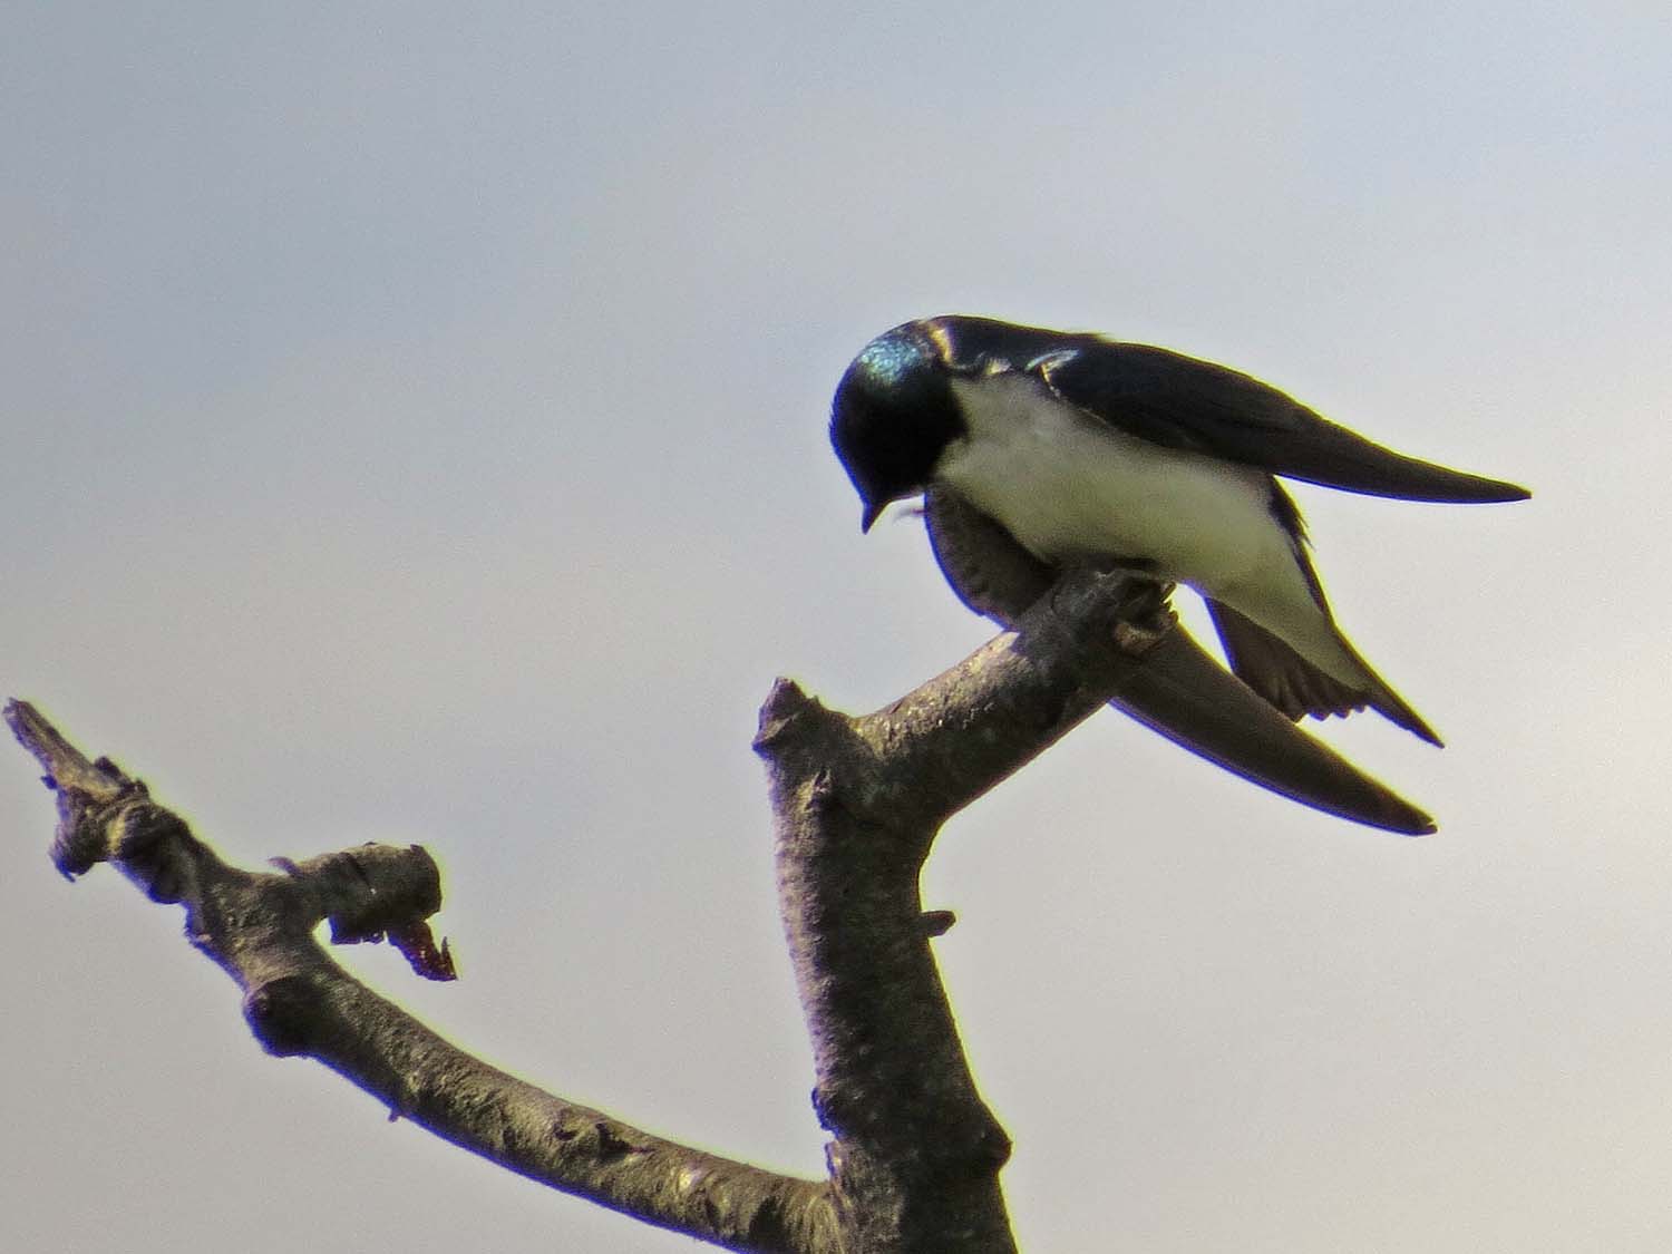
<path fill-rule="evenodd" d="M 779 681 L 761 716 L 779 906 L 813 1035 L 846 1251 L 1012 1251 L 1010 1139 L 963 1057 L 918 873 L 940 824 L 1117 694 L 1154 585 L 1080 572 L 1005 634 L 859 719 Z M 1124 644 L 1117 644 L 1117 640 Z"/>

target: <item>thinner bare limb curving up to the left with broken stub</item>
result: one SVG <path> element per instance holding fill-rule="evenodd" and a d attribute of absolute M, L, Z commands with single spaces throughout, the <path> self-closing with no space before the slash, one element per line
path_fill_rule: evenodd
<path fill-rule="evenodd" d="M 244 991 L 244 1017 L 274 1055 L 309 1055 L 436 1135 L 520 1175 L 739 1251 L 834 1251 L 829 1185 L 652 1137 L 463 1053 L 338 966 L 314 941 L 400 933 L 425 953 L 440 874 L 418 846 L 361 846 L 257 874 L 222 863 L 139 779 L 75 749 L 27 702 L 7 722 L 57 791 L 52 856 L 69 876 L 109 861 L 154 901 L 186 906 L 186 935 Z"/>

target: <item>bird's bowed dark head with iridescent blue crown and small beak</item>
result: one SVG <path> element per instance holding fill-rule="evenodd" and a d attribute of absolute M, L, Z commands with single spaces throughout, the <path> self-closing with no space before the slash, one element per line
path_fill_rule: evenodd
<path fill-rule="evenodd" d="M 831 443 L 866 532 L 890 502 L 928 487 L 946 443 L 965 431 L 945 353 L 931 323 L 905 323 L 866 344 L 836 386 Z"/>

